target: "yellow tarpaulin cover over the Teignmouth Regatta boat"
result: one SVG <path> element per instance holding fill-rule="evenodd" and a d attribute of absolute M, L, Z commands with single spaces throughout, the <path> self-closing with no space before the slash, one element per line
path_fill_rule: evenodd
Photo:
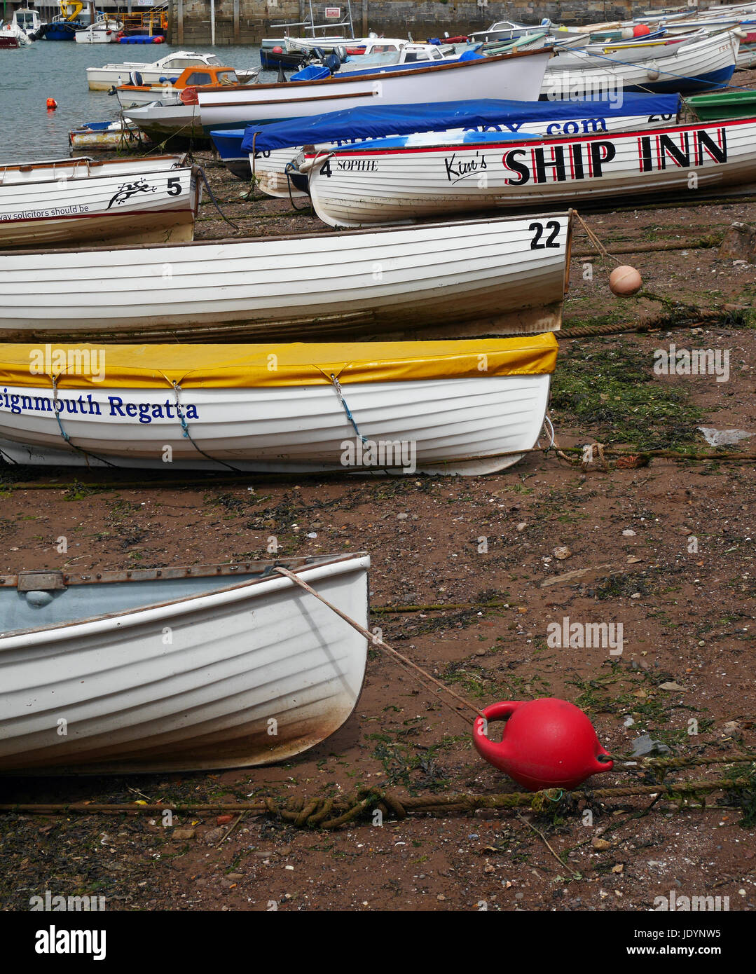
<path fill-rule="evenodd" d="M 525 338 L 287 345 L 0 345 L 0 383 L 50 389 L 250 389 L 550 373 L 551 332 Z"/>

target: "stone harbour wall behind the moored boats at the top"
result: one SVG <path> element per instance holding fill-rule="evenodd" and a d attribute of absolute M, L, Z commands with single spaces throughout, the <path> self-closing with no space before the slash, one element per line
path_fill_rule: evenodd
<path fill-rule="evenodd" d="M 367 30 L 415 40 L 479 30 L 494 20 L 539 23 L 548 17 L 563 23 L 586 23 L 638 17 L 644 11 L 683 6 L 685 0 L 353 0 L 355 34 Z M 327 6 L 330 6 L 328 4 Z M 346 0 L 333 0 L 346 14 Z M 701 8 L 709 6 L 700 0 Z M 324 22 L 326 4 L 313 3 L 316 22 Z M 211 38 L 210 0 L 170 0 L 170 42 L 193 48 Z M 302 21 L 309 14 L 305 0 L 215 0 L 215 43 L 257 44 L 275 36 L 276 24 Z M 291 33 L 296 31 L 292 30 Z"/>

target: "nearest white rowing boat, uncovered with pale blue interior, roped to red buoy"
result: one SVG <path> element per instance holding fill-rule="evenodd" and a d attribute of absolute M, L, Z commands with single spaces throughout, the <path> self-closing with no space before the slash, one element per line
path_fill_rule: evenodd
<path fill-rule="evenodd" d="M 366 554 L 0 578 L 0 771 L 284 761 L 359 699 Z"/>

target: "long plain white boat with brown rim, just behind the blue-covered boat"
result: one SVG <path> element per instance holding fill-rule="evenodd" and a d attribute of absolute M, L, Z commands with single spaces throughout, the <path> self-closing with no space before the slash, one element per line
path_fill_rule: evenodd
<path fill-rule="evenodd" d="M 533 101 L 541 92 L 551 51 L 521 51 L 380 75 L 337 73 L 321 81 L 205 89 L 199 92 L 200 114 L 209 132 L 366 104 L 435 104 L 491 96 Z"/>

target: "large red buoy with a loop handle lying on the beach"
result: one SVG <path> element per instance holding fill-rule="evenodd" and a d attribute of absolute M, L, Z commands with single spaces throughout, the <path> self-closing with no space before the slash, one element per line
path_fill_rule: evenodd
<path fill-rule="evenodd" d="M 475 750 L 529 791 L 577 788 L 591 774 L 614 767 L 598 760 L 609 754 L 583 711 L 568 700 L 508 700 L 483 713 L 485 721 L 477 717 L 472 728 Z M 498 743 L 486 735 L 489 721 L 507 721 Z"/>

